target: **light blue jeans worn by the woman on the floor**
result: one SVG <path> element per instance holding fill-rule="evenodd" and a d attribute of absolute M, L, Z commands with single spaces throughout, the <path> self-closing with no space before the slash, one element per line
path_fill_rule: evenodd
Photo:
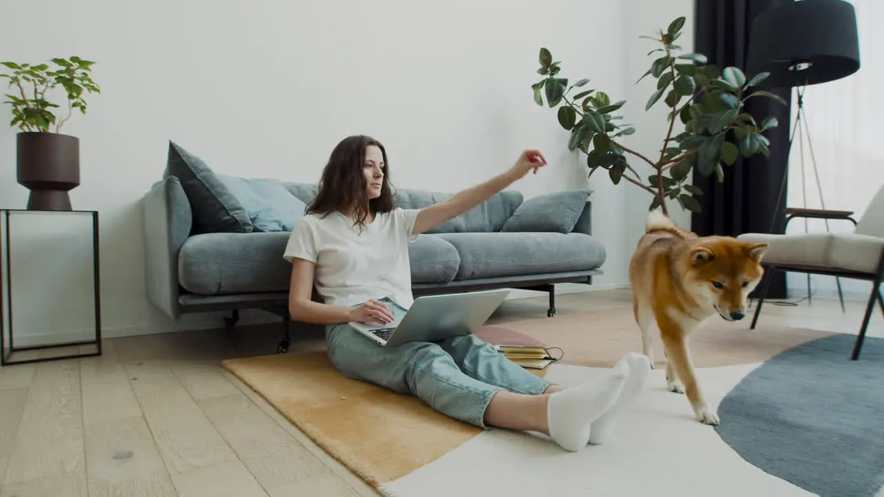
<path fill-rule="evenodd" d="M 396 317 L 405 310 L 384 299 Z M 347 378 L 415 394 L 454 419 L 487 428 L 485 409 L 501 390 L 543 394 L 552 383 L 500 354 L 475 335 L 381 347 L 347 323 L 325 327 L 331 363 Z"/>

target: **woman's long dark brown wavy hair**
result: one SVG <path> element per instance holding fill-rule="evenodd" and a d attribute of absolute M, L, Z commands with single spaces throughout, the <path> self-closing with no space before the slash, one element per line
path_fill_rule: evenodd
<path fill-rule="evenodd" d="M 384 180 L 381 194 L 369 200 L 368 183 L 362 172 L 365 164 L 365 150 L 371 145 L 381 149 L 384 157 Z M 386 149 L 380 141 L 356 134 L 347 136 L 331 150 L 331 157 L 325 164 L 316 197 L 309 204 L 308 213 L 327 216 L 338 210 L 352 210 L 354 226 L 365 227 L 369 214 L 389 212 L 393 209 L 392 185 L 390 183 L 390 163 L 387 161 Z"/>

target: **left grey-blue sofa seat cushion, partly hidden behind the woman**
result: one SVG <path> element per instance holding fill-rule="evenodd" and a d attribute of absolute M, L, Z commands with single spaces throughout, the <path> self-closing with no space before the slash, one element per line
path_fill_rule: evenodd
<path fill-rule="evenodd" d="M 179 252 L 179 282 L 203 295 L 288 291 L 292 264 L 282 258 L 291 233 L 203 233 Z M 461 259 L 447 241 L 418 236 L 408 244 L 415 283 L 446 283 Z"/>

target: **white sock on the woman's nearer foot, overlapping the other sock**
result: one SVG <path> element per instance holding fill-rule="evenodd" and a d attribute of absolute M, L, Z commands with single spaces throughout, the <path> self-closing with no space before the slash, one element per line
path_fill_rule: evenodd
<path fill-rule="evenodd" d="M 590 426 L 610 409 L 626 383 L 629 366 L 621 363 L 595 383 L 551 394 L 546 418 L 552 440 L 569 452 L 586 447 Z"/>

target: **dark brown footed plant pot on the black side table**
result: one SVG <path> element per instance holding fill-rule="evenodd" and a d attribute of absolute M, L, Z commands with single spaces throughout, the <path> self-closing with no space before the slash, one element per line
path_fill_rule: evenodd
<path fill-rule="evenodd" d="M 80 186 L 80 139 L 57 133 L 16 137 L 16 180 L 31 190 L 27 210 L 71 210 L 68 192 Z"/>

